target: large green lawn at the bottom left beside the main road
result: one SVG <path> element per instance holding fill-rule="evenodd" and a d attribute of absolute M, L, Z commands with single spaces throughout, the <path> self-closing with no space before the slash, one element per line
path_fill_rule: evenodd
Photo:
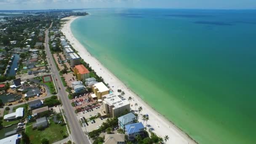
<path fill-rule="evenodd" d="M 63 131 L 61 133 L 61 131 Z M 43 131 L 33 130 L 32 125 L 26 127 L 26 133 L 29 136 L 31 144 L 41 144 L 41 140 L 46 138 L 49 140 L 49 144 L 64 139 L 63 136 L 68 136 L 66 125 L 55 124 L 50 120 L 48 128 Z"/>

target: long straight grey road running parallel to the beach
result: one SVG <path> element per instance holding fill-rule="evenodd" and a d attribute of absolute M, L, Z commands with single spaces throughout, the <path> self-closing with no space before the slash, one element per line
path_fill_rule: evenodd
<path fill-rule="evenodd" d="M 52 24 L 51 24 L 51 26 L 52 26 Z M 50 28 L 51 28 L 51 26 L 50 26 Z M 69 127 L 71 129 L 72 140 L 75 142 L 75 144 L 91 144 L 91 142 L 89 142 L 88 138 L 85 136 L 85 133 L 82 131 L 80 123 L 77 120 L 77 118 L 75 116 L 75 112 L 74 112 L 74 110 L 73 110 L 73 108 L 70 104 L 69 99 L 68 99 L 67 92 L 65 91 L 66 88 L 64 87 L 64 85 L 61 82 L 61 77 L 60 77 L 58 69 L 57 69 L 57 67 L 56 67 L 56 65 L 53 61 L 53 57 L 51 55 L 51 51 L 50 51 L 50 48 L 49 48 L 48 33 L 49 33 L 49 31 L 47 29 L 45 31 L 45 51 L 46 51 L 47 57 L 49 58 L 48 60 L 49 60 L 49 63 L 50 63 L 51 71 L 52 71 L 53 74 L 55 74 L 53 76 L 53 80 L 56 84 L 56 88 L 58 90 L 58 96 L 61 99 L 64 111 L 65 111 L 66 116 L 67 116 L 67 120 L 69 122 Z"/>

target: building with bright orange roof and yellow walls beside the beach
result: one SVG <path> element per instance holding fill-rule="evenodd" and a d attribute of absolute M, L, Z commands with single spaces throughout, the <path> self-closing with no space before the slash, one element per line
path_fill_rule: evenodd
<path fill-rule="evenodd" d="M 85 79 L 90 77 L 90 71 L 83 64 L 76 65 L 74 67 L 74 73 L 80 81 L 85 81 Z"/>

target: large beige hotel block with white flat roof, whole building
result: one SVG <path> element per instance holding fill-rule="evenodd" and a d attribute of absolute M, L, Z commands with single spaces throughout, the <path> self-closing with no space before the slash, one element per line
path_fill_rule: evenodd
<path fill-rule="evenodd" d="M 117 117 L 121 115 L 127 109 L 130 111 L 130 103 L 127 100 L 122 100 L 115 93 L 109 93 L 102 96 L 102 106 L 106 114 L 112 117 Z"/>

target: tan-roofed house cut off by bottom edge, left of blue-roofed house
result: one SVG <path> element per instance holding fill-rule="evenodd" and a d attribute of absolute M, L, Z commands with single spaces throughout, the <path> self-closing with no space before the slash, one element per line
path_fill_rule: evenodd
<path fill-rule="evenodd" d="M 103 144 L 125 144 L 125 134 L 105 134 Z"/>

